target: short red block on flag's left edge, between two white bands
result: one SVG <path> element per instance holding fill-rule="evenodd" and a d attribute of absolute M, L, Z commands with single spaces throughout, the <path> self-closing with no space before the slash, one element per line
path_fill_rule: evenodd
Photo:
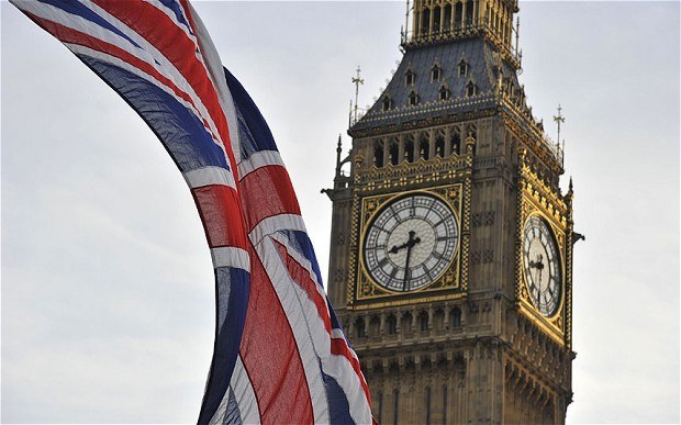
<path fill-rule="evenodd" d="M 211 248 L 236 246 L 246 249 L 246 234 L 236 191 L 222 184 L 192 189 L 205 237 Z"/>

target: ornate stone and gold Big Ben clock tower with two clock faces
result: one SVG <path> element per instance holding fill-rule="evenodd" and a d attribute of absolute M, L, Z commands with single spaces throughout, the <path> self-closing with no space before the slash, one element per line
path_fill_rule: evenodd
<path fill-rule="evenodd" d="M 518 83 L 517 1 L 412 10 L 345 158 L 338 141 L 331 301 L 379 422 L 563 423 L 572 184 Z"/>

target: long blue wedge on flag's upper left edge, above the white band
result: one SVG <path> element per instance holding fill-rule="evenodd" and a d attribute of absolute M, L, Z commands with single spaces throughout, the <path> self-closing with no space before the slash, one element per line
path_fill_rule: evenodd
<path fill-rule="evenodd" d="M 230 168 L 224 152 L 203 123 L 175 97 L 124 69 L 89 56 L 78 57 L 121 94 L 164 141 L 180 170 L 191 171 L 206 166 Z"/>

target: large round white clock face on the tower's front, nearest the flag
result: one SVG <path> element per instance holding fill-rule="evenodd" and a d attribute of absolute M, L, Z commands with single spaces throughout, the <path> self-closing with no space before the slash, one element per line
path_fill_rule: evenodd
<path fill-rule="evenodd" d="M 369 224 L 365 266 L 381 287 L 414 291 L 445 272 L 458 239 L 456 217 L 445 202 L 428 194 L 410 194 L 384 205 Z"/>

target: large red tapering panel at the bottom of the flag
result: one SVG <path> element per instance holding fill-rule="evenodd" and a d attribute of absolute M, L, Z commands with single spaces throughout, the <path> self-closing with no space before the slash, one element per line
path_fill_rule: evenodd
<path fill-rule="evenodd" d="M 250 295 L 241 355 L 263 424 L 312 424 L 314 414 L 298 345 L 288 317 L 252 250 Z"/>

